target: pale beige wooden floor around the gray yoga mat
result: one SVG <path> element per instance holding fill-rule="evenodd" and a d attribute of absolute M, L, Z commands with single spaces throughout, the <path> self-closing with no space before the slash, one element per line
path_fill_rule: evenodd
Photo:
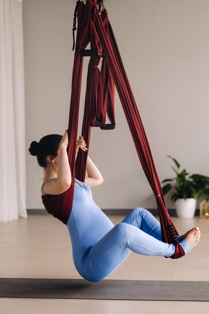
<path fill-rule="evenodd" d="M 109 215 L 114 225 L 125 216 Z M 158 219 L 158 217 L 156 217 Z M 131 252 L 105 279 L 209 281 L 209 219 L 172 218 L 179 234 L 198 226 L 201 238 L 186 256 L 172 260 Z M 0 277 L 82 278 L 72 259 L 67 227 L 51 215 L 0 223 Z M 0 314 L 144 313 L 209 314 L 209 302 L 0 298 Z"/>

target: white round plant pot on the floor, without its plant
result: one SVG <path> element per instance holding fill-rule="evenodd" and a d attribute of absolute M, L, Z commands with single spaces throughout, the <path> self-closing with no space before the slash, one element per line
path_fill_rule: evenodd
<path fill-rule="evenodd" d="M 178 199 L 175 201 L 175 209 L 178 217 L 192 218 L 196 209 L 196 199 Z"/>

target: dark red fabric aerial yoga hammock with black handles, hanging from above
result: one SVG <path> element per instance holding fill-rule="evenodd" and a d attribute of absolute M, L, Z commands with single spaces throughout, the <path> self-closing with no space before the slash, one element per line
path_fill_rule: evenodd
<path fill-rule="evenodd" d="M 82 182 L 85 180 L 86 162 L 89 149 L 85 153 L 80 149 L 76 162 L 75 151 L 78 133 L 83 58 L 84 56 L 91 56 L 88 67 L 87 89 L 82 124 L 82 135 L 85 138 L 87 148 L 89 148 L 92 126 L 99 126 L 101 129 L 113 129 L 115 127 L 115 85 L 139 160 L 156 197 L 162 241 L 173 243 L 175 245 L 175 253 L 170 257 L 179 258 L 185 255 L 185 253 L 179 245 L 177 230 L 168 215 L 149 143 L 108 20 L 107 11 L 103 6 L 103 11 L 100 15 L 97 9 L 96 0 L 87 0 L 86 4 L 81 0 L 77 1 L 74 13 L 73 39 L 76 30 L 76 18 L 78 19 L 78 29 L 76 45 L 75 40 L 73 44 L 75 55 L 68 125 L 69 144 L 67 147 L 69 165 L 72 174 L 72 184 L 71 187 L 62 194 L 43 195 L 42 199 L 45 208 L 49 213 L 53 214 L 54 217 L 67 224 L 73 204 L 75 176 Z M 91 49 L 85 50 L 89 43 Z M 103 60 L 100 72 L 98 64 L 101 58 Z M 105 123 L 106 113 L 111 122 L 109 124 Z"/>

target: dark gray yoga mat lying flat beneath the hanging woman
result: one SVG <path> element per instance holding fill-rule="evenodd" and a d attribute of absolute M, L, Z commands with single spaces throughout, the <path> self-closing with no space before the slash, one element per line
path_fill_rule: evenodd
<path fill-rule="evenodd" d="M 0 297 L 209 301 L 209 281 L 0 278 Z"/>

